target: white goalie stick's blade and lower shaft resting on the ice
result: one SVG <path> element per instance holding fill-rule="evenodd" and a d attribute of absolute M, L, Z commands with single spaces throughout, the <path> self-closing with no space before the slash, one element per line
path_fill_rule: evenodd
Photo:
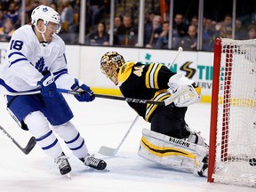
<path fill-rule="evenodd" d="M 132 127 L 134 126 L 134 124 L 136 123 L 136 121 L 138 120 L 139 115 L 137 115 L 135 117 L 135 119 L 133 120 L 130 128 L 128 129 L 128 131 L 125 133 L 123 140 L 121 140 L 121 142 L 119 143 L 119 145 L 117 146 L 117 148 L 108 148 L 107 146 L 101 146 L 98 153 L 104 156 L 115 156 L 117 151 L 119 150 L 119 148 L 121 148 L 121 146 L 124 143 L 124 140 L 126 139 L 126 137 L 128 136 L 129 132 L 131 132 Z"/>

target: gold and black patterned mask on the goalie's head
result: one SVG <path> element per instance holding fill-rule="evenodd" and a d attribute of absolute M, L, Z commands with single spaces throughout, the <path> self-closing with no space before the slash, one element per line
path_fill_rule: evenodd
<path fill-rule="evenodd" d="M 118 52 L 106 52 L 100 60 L 100 70 L 114 83 L 118 84 L 117 76 L 119 69 L 124 65 L 125 60 Z"/>

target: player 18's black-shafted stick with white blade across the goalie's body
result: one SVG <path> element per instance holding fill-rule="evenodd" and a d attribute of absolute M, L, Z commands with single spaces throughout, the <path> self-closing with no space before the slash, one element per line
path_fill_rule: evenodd
<path fill-rule="evenodd" d="M 81 92 L 76 91 L 69 91 L 65 89 L 57 88 L 57 92 L 63 92 L 63 93 L 69 93 L 74 95 L 79 95 Z M 103 94 L 94 94 L 95 97 L 103 98 L 103 99 L 111 99 L 111 100 L 125 100 L 127 102 L 134 102 L 134 103 L 141 103 L 141 104 L 154 104 L 159 106 L 168 106 L 172 103 L 173 100 L 176 100 L 180 97 L 180 95 L 185 94 L 189 92 L 189 86 L 183 86 L 180 89 L 178 89 L 177 92 L 174 92 L 171 97 L 167 98 L 166 100 L 162 101 L 154 101 L 154 100 L 142 100 L 142 99 L 135 99 L 135 98 L 124 98 L 124 97 L 118 97 L 113 95 L 103 95 Z"/>

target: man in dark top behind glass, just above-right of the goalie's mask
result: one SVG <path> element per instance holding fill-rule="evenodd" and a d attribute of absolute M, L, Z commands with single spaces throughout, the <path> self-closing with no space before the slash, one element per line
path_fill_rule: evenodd
<path fill-rule="evenodd" d="M 134 46 L 137 43 L 138 29 L 132 23 L 132 16 L 124 14 L 123 25 L 116 30 L 119 44 L 123 46 Z"/>

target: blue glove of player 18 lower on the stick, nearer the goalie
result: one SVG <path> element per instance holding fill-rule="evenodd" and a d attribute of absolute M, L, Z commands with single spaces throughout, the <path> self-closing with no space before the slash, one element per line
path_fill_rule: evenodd
<path fill-rule="evenodd" d="M 80 92 L 79 95 L 74 95 L 76 100 L 90 102 L 95 99 L 94 93 L 86 84 L 81 83 L 75 78 L 75 84 L 71 86 L 71 89 L 76 92 Z"/>

